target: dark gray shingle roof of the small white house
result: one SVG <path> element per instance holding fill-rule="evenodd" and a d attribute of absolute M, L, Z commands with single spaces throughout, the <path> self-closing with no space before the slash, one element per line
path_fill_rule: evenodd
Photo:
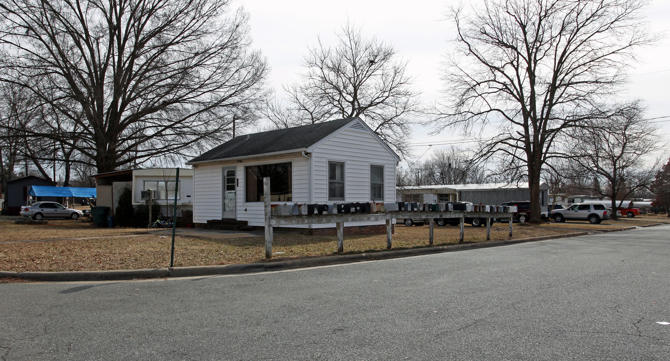
<path fill-rule="evenodd" d="M 228 142 L 196 156 L 186 164 L 309 148 L 354 119 L 356 118 L 330 120 L 329 122 L 306 126 L 236 136 Z"/>

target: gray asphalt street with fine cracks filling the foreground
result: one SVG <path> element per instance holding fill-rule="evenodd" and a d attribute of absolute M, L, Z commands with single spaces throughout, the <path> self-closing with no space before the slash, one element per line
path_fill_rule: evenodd
<path fill-rule="evenodd" d="M 0 285 L 0 360 L 670 360 L 670 225 L 277 273 Z"/>

